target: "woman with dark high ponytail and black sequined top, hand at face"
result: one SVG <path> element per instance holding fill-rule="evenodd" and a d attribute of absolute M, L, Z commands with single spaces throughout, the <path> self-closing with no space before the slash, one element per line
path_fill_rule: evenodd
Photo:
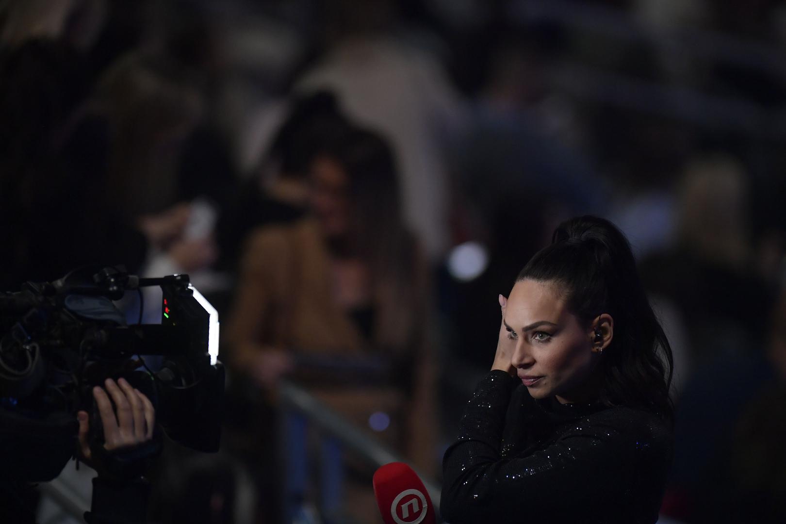
<path fill-rule="evenodd" d="M 443 518 L 656 522 L 672 357 L 623 233 L 562 223 L 499 303 L 494 364 L 445 454 Z"/>

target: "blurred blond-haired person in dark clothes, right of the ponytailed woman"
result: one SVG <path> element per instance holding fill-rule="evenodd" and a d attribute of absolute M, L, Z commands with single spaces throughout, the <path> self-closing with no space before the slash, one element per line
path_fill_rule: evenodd
<path fill-rule="evenodd" d="M 689 335 L 692 372 L 677 407 L 664 513 L 712 522 L 718 502 L 733 499 L 719 495 L 728 486 L 717 468 L 728 464 L 740 416 L 772 377 L 766 354 L 775 295 L 759 273 L 750 189 L 738 160 L 693 159 L 677 201 L 674 247 L 643 263 L 650 288 L 678 308 Z"/>

